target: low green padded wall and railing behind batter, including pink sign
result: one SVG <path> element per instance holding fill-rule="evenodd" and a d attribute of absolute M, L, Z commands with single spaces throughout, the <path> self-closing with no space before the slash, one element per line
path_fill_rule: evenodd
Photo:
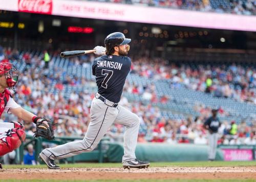
<path fill-rule="evenodd" d="M 34 145 L 35 157 L 38 161 L 38 155 L 42 146 L 52 144 L 65 144 L 70 141 L 81 140 L 81 137 L 56 137 L 53 141 L 42 138 L 33 138 L 28 136 L 20 148 L 16 151 L 16 163 L 23 162 L 24 148 L 30 143 Z M 59 163 L 74 162 L 121 162 L 123 155 L 122 142 L 110 142 L 110 138 L 104 138 L 98 147 L 90 152 L 84 152 L 75 157 L 66 160 L 60 160 Z M 189 151 L 189 152 L 187 152 Z M 256 146 L 254 145 L 219 145 L 216 155 L 218 161 L 252 161 L 255 160 Z M 146 161 L 206 161 L 208 156 L 207 145 L 195 144 L 168 144 L 168 143 L 138 143 L 136 147 L 136 156 Z"/>

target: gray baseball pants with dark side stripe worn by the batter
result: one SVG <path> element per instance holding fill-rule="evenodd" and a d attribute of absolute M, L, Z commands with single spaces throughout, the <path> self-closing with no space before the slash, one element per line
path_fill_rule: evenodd
<path fill-rule="evenodd" d="M 46 148 L 42 152 L 51 159 L 63 159 L 82 152 L 92 151 L 113 123 L 122 124 L 126 127 L 122 162 L 136 159 L 135 149 L 140 125 L 139 117 L 122 106 L 109 107 L 97 98 L 92 101 L 91 121 L 83 140 Z"/>

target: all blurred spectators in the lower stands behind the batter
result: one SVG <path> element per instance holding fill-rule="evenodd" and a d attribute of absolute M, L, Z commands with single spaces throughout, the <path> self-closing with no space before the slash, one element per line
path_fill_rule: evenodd
<path fill-rule="evenodd" d="M 8 62 L 18 60 L 26 63 L 26 69 L 19 76 L 19 81 L 14 94 L 15 100 L 28 111 L 38 116 L 44 116 L 58 123 L 56 136 L 84 136 L 90 122 L 90 104 L 94 97 L 93 92 L 83 90 L 72 92 L 69 98 L 63 97 L 61 92 L 54 95 L 50 92 L 53 81 L 56 81 L 55 89 L 62 90 L 69 85 L 95 86 L 94 79 L 69 77 L 60 80 L 62 74 L 60 68 L 54 68 L 54 74 L 49 74 L 46 64 L 45 52 L 41 56 L 31 56 L 29 52 L 20 55 L 18 50 L 0 47 L 0 60 Z M 51 56 L 50 56 L 51 57 Z M 86 58 L 85 62 L 75 64 L 91 64 L 93 56 Z M 154 64 L 153 64 L 154 63 Z M 239 65 L 231 66 L 197 66 L 168 65 L 162 59 L 135 58 L 131 68 L 131 74 L 138 74 L 151 79 L 168 79 L 170 87 L 179 84 L 186 85 L 189 89 L 212 92 L 218 97 L 232 97 L 239 101 L 255 102 L 256 71 Z M 210 81 L 209 81 L 210 79 Z M 154 102 L 165 103 L 168 97 L 158 98 L 154 84 L 140 87 L 126 82 L 124 93 L 140 95 Z M 196 118 L 187 117 L 184 120 L 165 119 L 161 117 L 161 111 L 152 104 L 144 105 L 140 101 L 129 102 L 122 96 L 120 105 L 129 108 L 140 117 L 139 142 L 168 142 L 168 143 L 197 143 L 206 144 L 206 131 L 202 127 L 203 122 L 210 116 L 211 109 L 204 106 L 195 107 L 200 115 Z M 219 114 L 225 114 L 223 110 Z M 12 115 L 2 116 L 2 122 L 15 120 Z M 25 124 L 28 135 L 33 135 L 35 125 Z M 113 125 L 108 135 L 111 140 L 119 141 L 122 138 L 124 127 Z M 219 134 L 223 136 L 219 144 L 256 144 L 256 125 L 252 121 L 250 125 L 245 122 L 236 124 L 236 121 L 222 121 Z M 231 136 L 231 137 L 230 137 Z"/>

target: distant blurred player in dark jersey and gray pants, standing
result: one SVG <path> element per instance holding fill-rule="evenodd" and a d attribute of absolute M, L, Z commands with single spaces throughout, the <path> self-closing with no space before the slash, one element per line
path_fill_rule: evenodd
<path fill-rule="evenodd" d="M 209 131 L 209 155 L 208 160 L 214 161 L 217 152 L 218 145 L 218 129 L 221 126 L 221 122 L 217 117 L 218 109 L 212 109 L 212 116 L 204 122 L 204 128 Z"/>

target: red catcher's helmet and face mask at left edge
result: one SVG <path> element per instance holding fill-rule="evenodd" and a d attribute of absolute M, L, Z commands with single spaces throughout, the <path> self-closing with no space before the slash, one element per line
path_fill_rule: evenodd
<path fill-rule="evenodd" d="M 18 81 L 19 71 L 11 63 L 0 63 L 0 75 L 5 74 L 6 83 L 15 92 L 15 85 Z"/>

